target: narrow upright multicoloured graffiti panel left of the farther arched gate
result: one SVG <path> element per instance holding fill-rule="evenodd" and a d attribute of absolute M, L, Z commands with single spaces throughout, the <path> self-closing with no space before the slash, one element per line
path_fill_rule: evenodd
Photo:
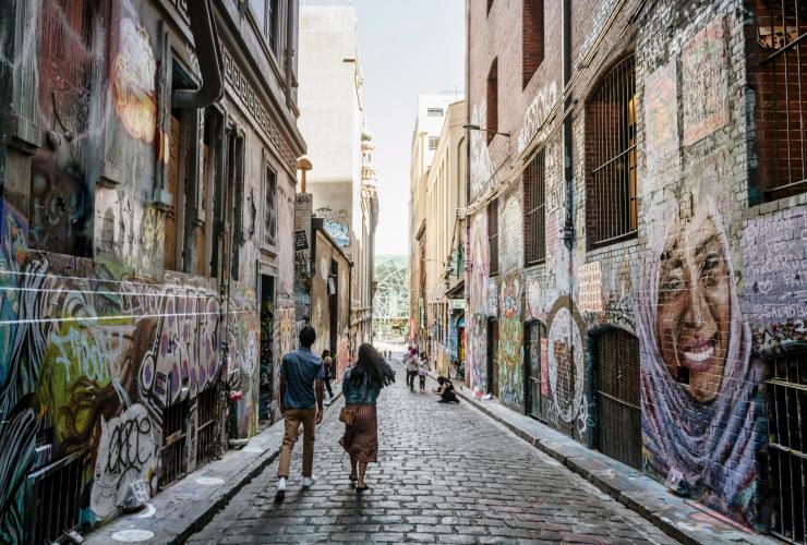
<path fill-rule="evenodd" d="M 510 405 L 523 407 L 523 284 L 519 276 L 507 276 L 499 291 L 498 395 Z"/>

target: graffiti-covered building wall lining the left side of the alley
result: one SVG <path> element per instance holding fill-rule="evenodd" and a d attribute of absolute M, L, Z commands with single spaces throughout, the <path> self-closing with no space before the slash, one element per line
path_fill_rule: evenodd
<path fill-rule="evenodd" d="M 225 88 L 204 110 L 171 104 L 206 62 L 181 2 L 2 9 L 2 542 L 59 537 L 35 534 L 37 495 L 75 506 L 59 533 L 93 525 L 133 482 L 156 494 L 254 435 L 294 342 L 297 36 L 280 25 L 272 53 L 251 9 L 213 4 Z M 277 279 L 263 339 L 258 271 Z"/>

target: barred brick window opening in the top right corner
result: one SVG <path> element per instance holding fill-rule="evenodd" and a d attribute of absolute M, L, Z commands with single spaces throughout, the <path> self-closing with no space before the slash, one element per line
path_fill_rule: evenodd
<path fill-rule="evenodd" d="M 758 178 L 766 199 L 807 191 L 807 1 L 757 0 Z"/>

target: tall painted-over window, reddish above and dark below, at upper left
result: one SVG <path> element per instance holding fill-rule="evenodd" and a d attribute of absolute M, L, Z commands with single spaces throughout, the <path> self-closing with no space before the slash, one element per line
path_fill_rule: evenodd
<path fill-rule="evenodd" d="M 85 52 L 105 38 L 95 2 L 59 5 L 41 14 L 39 100 L 25 98 L 37 104 L 40 119 L 52 123 L 59 136 L 59 146 L 38 148 L 31 162 L 27 242 L 36 250 L 92 257 L 97 161 L 89 159 L 99 149 L 97 138 L 85 136 L 94 130 L 89 120 L 99 113 L 101 94 L 93 83 L 95 61 Z M 79 137 L 69 138 L 70 132 Z M 106 215 L 98 220 L 99 251 L 113 253 L 115 218 Z"/>

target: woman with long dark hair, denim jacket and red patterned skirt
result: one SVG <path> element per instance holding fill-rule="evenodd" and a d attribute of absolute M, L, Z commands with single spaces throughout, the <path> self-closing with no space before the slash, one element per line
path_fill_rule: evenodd
<path fill-rule="evenodd" d="M 369 488 L 364 482 L 368 463 L 377 462 L 378 420 L 375 404 L 382 388 L 395 382 L 389 367 L 372 344 L 359 347 L 359 360 L 345 372 L 341 391 L 345 408 L 339 420 L 345 422 L 345 436 L 339 445 L 350 455 L 350 475 L 356 492 Z"/>

